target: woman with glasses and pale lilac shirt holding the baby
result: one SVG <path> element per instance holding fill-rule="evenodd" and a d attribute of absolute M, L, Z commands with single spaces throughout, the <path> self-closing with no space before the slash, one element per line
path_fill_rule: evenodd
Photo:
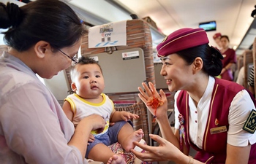
<path fill-rule="evenodd" d="M 87 32 L 80 18 L 58 0 L 0 3 L 0 28 L 9 46 L 0 57 L 0 163 L 87 163 L 91 130 L 105 120 L 94 114 L 74 128 L 36 76 L 50 79 L 77 62 Z"/>

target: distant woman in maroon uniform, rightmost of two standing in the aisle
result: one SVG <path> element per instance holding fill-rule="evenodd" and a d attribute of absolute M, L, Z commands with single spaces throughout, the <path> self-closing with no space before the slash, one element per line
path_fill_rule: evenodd
<path fill-rule="evenodd" d="M 233 65 L 236 64 L 236 51 L 229 47 L 230 39 L 226 35 L 220 37 L 220 42 L 222 43 L 222 71 L 220 76 L 222 79 L 233 81 Z"/>

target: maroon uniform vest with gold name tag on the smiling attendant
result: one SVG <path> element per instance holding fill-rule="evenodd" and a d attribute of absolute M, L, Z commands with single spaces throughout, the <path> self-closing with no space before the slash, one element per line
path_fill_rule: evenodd
<path fill-rule="evenodd" d="M 225 163 L 227 149 L 227 131 L 228 131 L 228 114 L 231 101 L 236 93 L 243 90 L 244 87 L 223 79 L 215 78 L 214 91 L 211 95 L 211 103 L 206 123 L 206 130 L 203 136 L 203 149 L 199 149 L 193 144 L 189 136 L 189 95 L 187 91 L 182 90 L 177 98 L 178 111 L 184 117 L 185 142 L 187 146 L 197 150 L 195 159 L 203 163 Z M 252 95 L 251 95 L 252 97 Z M 253 100 L 253 99 L 252 99 Z M 253 100 L 255 103 L 255 100 Z M 256 104 L 256 103 L 255 103 Z M 216 120 L 218 124 L 216 125 Z M 211 129 L 217 127 L 226 127 L 227 130 L 222 133 L 211 134 Z M 189 147 L 188 147 L 189 148 Z M 249 164 L 256 163 L 256 144 L 251 147 Z"/>

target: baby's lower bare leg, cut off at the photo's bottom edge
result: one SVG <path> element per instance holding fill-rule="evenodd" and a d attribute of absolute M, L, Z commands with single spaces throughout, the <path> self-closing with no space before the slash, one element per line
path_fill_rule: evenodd
<path fill-rule="evenodd" d="M 91 160 L 102 161 L 103 163 L 109 163 L 109 160 L 114 157 L 113 160 L 111 160 L 113 161 L 113 164 L 125 164 L 123 157 L 119 155 L 116 157 L 114 155 L 116 154 L 113 153 L 105 144 L 97 144 L 91 149 L 88 157 Z"/>

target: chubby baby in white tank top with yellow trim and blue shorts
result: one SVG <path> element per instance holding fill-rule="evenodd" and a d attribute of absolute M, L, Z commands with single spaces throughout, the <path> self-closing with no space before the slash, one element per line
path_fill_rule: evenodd
<path fill-rule="evenodd" d="M 86 158 L 110 163 L 109 159 L 115 153 L 108 146 L 117 141 L 126 152 L 133 149 L 135 147 L 133 141 L 140 141 L 143 137 L 143 130 L 134 131 L 127 121 L 137 119 L 139 116 L 114 109 L 113 101 L 108 98 L 108 95 L 102 93 L 105 83 L 102 69 L 97 61 L 82 56 L 70 70 L 70 77 L 72 79 L 71 88 L 75 93 L 68 95 L 63 105 L 63 110 L 69 120 L 76 127 L 84 117 L 99 114 L 107 122 L 102 132 L 99 130 L 91 132 L 93 136 L 91 136 L 91 142 L 87 147 Z M 115 122 L 115 124 L 109 127 L 110 122 Z M 120 163 L 116 161 L 122 161 L 121 163 L 125 164 L 121 155 L 116 155 L 116 159 L 113 159 L 113 162 Z"/>

